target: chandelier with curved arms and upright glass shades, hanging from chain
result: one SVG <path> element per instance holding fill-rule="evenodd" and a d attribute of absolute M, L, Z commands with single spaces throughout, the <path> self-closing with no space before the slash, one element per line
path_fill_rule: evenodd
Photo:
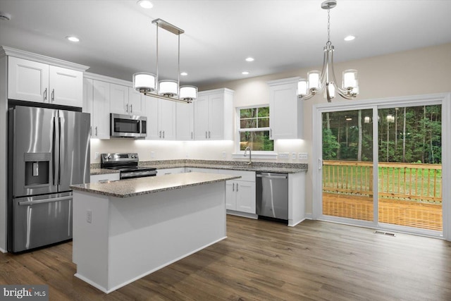
<path fill-rule="evenodd" d="M 327 38 L 324 47 L 323 69 L 321 73 L 313 70 L 307 73 L 308 80 L 300 79 L 297 84 L 299 99 L 309 99 L 324 90 L 324 98 L 330 102 L 335 98 L 335 92 L 345 98 L 353 99 L 359 94 L 359 83 L 357 80 L 357 70 L 345 70 L 342 74 L 342 86 L 338 87 L 335 73 L 333 71 L 333 45 L 330 42 L 330 8 L 337 6 L 336 0 L 326 0 L 321 4 L 321 8 L 327 9 Z"/>

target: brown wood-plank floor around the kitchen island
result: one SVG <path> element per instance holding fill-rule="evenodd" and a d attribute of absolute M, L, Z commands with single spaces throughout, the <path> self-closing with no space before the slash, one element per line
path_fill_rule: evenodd
<path fill-rule="evenodd" d="M 228 238 L 108 295 L 75 278 L 72 243 L 0 254 L 1 284 L 49 300 L 451 300 L 451 243 L 322 221 L 227 217 Z"/>

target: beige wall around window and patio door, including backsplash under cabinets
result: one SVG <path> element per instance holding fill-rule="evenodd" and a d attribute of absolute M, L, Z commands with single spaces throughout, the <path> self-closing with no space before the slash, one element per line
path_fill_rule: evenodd
<path fill-rule="evenodd" d="M 319 53 L 321 55 L 321 53 Z M 294 76 L 306 77 L 309 70 L 318 70 L 321 66 L 311 66 L 292 70 L 285 73 L 265 75 L 246 80 L 221 82 L 216 85 L 199 87 L 199 90 L 211 90 L 227 87 L 235 91 L 233 97 L 234 107 L 268 104 L 268 80 L 278 80 Z M 335 72 L 337 80 L 341 81 L 341 72 L 346 69 L 359 71 L 360 94 L 357 100 L 336 99 L 335 102 L 358 102 L 360 99 L 375 99 L 384 97 L 408 96 L 415 94 L 431 94 L 438 92 L 451 92 L 451 43 L 414 49 L 395 54 L 376 56 L 369 59 L 336 63 Z M 277 152 L 307 152 L 309 159 L 306 161 L 311 166 L 311 157 L 316 150 L 311 148 L 312 141 L 312 105 L 326 102 L 321 95 L 304 102 L 304 140 L 279 140 L 276 141 Z M 159 159 L 209 159 L 223 160 L 223 152 L 226 159 L 231 159 L 233 142 L 160 142 L 137 141 L 123 142 L 123 140 L 104 140 L 94 142 L 91 145 L 94 152 L 130 152 L 134 147 L 142 160 Z M 150 152 L 154 152 L 154 158 Z M 290 161 L 290 160 L 288 160 Z M 92 163 L 99 162 L 92 156 Z M 297 160 L 296 162 L 304 162 Z M 312 210 L 311 197 L 311 172 L 307 172 L 306 199 L 307 214 Z"/>

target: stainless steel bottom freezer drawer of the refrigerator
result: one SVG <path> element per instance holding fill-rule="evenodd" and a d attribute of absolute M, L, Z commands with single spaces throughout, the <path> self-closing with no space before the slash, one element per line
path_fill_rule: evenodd
<path fill-rule="evenodd" d="M 13 250 L 72 238 L 72 192 L 13 199 Z"/>

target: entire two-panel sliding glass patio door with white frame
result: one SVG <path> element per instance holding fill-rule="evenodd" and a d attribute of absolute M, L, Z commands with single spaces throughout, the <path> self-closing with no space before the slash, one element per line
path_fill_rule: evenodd
<path fill-rule="evenodd" d="M 328 108 L 330 106 L 330 108 Z M 314 203 L 320 219 L 411 233 L 443 231 L 442 104 L 324 105 Z M 320 184 L 319 183 L 319 184 Z M 316 187 L 319 187 L 317 185 Z"/>

